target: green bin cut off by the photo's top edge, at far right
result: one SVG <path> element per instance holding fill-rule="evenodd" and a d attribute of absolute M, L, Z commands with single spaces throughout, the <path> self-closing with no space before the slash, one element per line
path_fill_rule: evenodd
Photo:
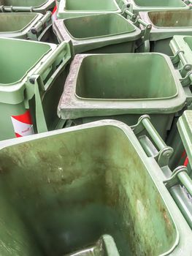
<path fill-rule="evenodd" d="M 183 0 L 126 0 L 128 10 L 138 14 L 150 10 L 190 9 Z"/>

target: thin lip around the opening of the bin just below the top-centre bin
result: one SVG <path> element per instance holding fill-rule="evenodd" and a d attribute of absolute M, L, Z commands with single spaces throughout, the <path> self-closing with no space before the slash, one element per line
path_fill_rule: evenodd
<path fill-rule="evenodd" d="M 133 23 L 130 22 L 130 20 L 127 20 L 126 18 L 124 18 L 122 15 L 118 14 L 118 13 L 96 13 L 95 15 L 85 15 L 83 16 L 83 18 L 85 17 L 91 17 L 91 16 L 107 16 L 107 15 L 112 15 L 112 16 L 118 16 L 120 19 L 122 20 L 125 20 L 128 22 L 128 24 L 131 26 L 131 30 L 130 31 L 125 31 L 125 32 L 119 32 L 117 34 L 104 34 L 104 35 L 101 35 L 101 36 L 95 36 L 95 37 L 82 37 L 82 38 L 79 38 L 79 37 L 73 37 L 72 34 L 69 32 L 69 30 L 66 28 L 65 26 L 65 23 L 64 23 L 64 28 L 66 29 L 66 31 L 68 32 L 69 36 L 74 39 L 74 40 L 77 40 L 77 41 L 82 41 L 82 40 L 95 40 L 95 39 L 99 39 L 99 38 L 104 38 L 104 37 L 115 37 L 115 36 L 120 36 L 120 35 L 125 35 L 125 34 L 131 34 L 133 33 L 134 31 L 137 31 L 137 34 L 140 34 L 141 31 L 139 31 L 139 29 L 137 28 L 137 26 L 134 26 Z M 65 18 L 63 20 L 63 22 L 65 20 L 72 20 L 72 19 L 78 19 L 78 18 L 82 18 L 82 17 L 71 17 L 71 18 Z M 58 20 L 59 21 L 59 20 Z"/>

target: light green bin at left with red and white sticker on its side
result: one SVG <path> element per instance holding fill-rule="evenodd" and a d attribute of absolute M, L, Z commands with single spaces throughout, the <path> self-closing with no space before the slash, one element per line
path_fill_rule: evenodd
<path fill-rule="evenodd" d="M 55 129 L 70 57 L 65 42 L 0 38 L 0 140 Z"/>

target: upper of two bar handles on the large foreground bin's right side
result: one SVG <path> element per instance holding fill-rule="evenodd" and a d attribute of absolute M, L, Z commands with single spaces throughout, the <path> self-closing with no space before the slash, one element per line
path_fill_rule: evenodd
<path fill-rule="evenodd" d="M 135 135 L 137 135 L 139 132 L 142 132 L 143 130 L 146 130 L 150 135 L 150 138 L 153 140 L 155 148 L 158 149 L 158 154 L 155 155 L 155 159 L 157 160 L 158 165 L 160 167 L 164 167 L 169 164 L 169 158 L 172 156 L 173 148 L 166 146 L 166 143 L 164 143 L 164 140 L 162 140 L 161 136 L 150 122 L 150 116 L 141 116 L 137 124 L 131 126 L 131 129 Z M 144 148 L 145 152 L 149 151 L 149 146 L 147 143 L 142 143 L 142 147 Z"/>

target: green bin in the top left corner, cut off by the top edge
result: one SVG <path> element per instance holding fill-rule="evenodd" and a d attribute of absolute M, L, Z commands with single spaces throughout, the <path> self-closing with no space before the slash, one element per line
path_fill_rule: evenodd
<path fill-rule="evenodd" d="M 41 12 L 53 10 L 55 0 L 0 0 L 0 12 Z"/>

